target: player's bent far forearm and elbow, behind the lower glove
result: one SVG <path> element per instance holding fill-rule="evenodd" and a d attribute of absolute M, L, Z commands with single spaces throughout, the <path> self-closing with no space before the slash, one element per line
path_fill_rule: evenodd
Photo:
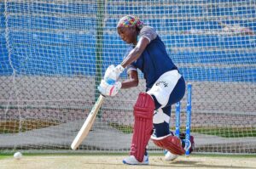
<path fill-rule="evenodd" d="M 128 73 L 128 79 L 122 82 L 121 88 L 137 87 L 139 82 L 137 70 L 129 70 L 127 73 Z"/>

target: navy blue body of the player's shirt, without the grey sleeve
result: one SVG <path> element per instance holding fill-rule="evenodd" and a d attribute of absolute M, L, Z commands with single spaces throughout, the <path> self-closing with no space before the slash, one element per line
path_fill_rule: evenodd
<path fill-rule="evenodd" d="M 173 64 L 172 59 L 166 52 L 165 44 L 157 35 L 148 43 L 143 54 L 128 66 L 128 70 L 136 68 L 143 72 L 147 88 L 151 88 L 154 82 L 166 71 L 177 70 L 177 66 Z"/>

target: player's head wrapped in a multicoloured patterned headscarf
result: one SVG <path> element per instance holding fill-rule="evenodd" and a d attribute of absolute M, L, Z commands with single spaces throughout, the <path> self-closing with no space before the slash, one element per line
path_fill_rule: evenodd
<path fill-rule="evenodd" d="M 123 41 L 136 43 L 137 34 L 143 28 L 143 25 L 143 22 L 136 16 L 126 15 L 119 20 L 117 30 Z"/>

